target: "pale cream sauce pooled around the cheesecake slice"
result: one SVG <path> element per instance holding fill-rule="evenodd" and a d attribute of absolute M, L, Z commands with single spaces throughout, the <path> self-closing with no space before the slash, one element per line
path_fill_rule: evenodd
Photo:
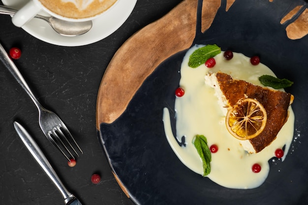
<path fill-rule="evenodd" d="M 197 68 L 188 67 L 188 59 L 192 52 L 201 47 L 194 46 L 189 49 L 181 66 L 180 87 L 185 89 L 183 97 L 175 100 L 176 111 L 176 137 L 181 142 L 185 136 L 186 146 L 179 146 L 171 130 L 170 114 L 167 108 L 163 110 L 163 123 L 166 138 L 173 151 L 186 167 L 203 175 L 202 161 L 192 144 L 196 134 L 204 135 L 208 146 L 218 146 L 218 151 L 212 153 L 211 173 L 207 176 L 217 184 L 227 188 L 251 189 L 260 186 L 268 176 L 269 160 L 275 156 L 275 150 L 285 145 L 284 160 L 293 138 L 294 113 L 289 108 L 287 122 L 281 128 L 277 139 L 262 151 L 248 154 L 227 130 L 225 116 L 217 103 L 214 88 L 204 82 L 205 75 L 210 72 L 221 71 L 235 79 L 245 80 L 262 86 L 258 80 L 261 75 L 275 74 L 262 63 L 251 65 L 250 59 L 243 54 L 233 53 L 233 59 L 226 60 L 223 52 L 215 57 L 216 65 L 207 68 L 200 65 Z M 261 165 L 261 172 L 253 173 L 253 164 Z"/>

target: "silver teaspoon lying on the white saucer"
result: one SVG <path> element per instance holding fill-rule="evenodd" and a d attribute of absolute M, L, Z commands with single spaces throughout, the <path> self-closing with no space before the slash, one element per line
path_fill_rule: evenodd
<path fill-rule="evenodd" d="M 0 5 L 0 14 L 14 15 L 16 9 Z M 36 15 L 38 19 L 43 19 L 50 24 L 50 26 L 59 34 L 65 36 L 76 36 L 88 32 L 92 28 L 92 21 L 85 22 L 68 22 L 55 17 L 47 17 Z"/>

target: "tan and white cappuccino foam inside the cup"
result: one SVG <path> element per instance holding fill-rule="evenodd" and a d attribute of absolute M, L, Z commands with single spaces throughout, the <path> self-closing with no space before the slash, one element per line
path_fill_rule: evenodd
<path fill-rule="evenodd" d="M 39 0 L 50 11 L 67 18 L 81 19 L 96 16 L 117 0 Z"/>

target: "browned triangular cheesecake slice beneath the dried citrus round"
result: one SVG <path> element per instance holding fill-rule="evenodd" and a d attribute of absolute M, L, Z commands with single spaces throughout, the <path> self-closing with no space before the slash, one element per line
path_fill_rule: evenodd
<path fill-rule="evenodd" d="M 242 98 L 255 99 L 263 105 L 267 114 L 264 130 L 252 139 L 239 140 L 249 153 L 257 153 L 269 146 L 288 119 L 288 108 L 294 99 L 290 93 L 236 80 L 222 72 L 209 73 L 205 76 L 205 83 L 215 88 L 218 104 L 224 114 Z"/>

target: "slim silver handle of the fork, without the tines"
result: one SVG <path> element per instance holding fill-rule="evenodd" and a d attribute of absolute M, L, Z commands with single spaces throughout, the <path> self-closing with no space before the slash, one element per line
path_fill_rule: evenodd
<path fill-rule="evenodd" d="M 29 88 L 27 82 L 25 81 L 24 77 L 19 72 L 18 68 L 14 64 L 13 60 L 8 56 L 6 51 L 4 50 L 3 46 L 0 44 L 0 60 L 5 65 L 5 67 L 10 71 L 10 73 L 14 76 L 16 81 L 21 85 L 24 90 L 28 93 L 28 95 L 31 97 L 32 101 L 36 105 L 37 109 L 41 109 L 41 105 L 32 93 L 31 89 Z"/>

